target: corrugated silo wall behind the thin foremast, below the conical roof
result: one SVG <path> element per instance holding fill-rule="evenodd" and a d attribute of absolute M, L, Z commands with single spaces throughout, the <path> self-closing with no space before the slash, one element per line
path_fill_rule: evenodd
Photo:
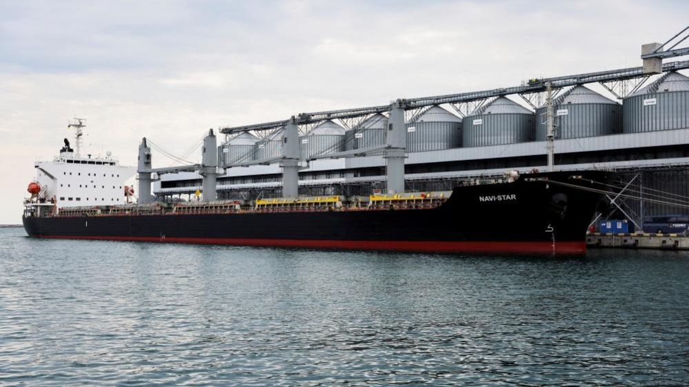
<path fill-rule="evenodd" d="M 621 132 L 622 107 L 603 103 L 576 103 L 556 106 L 556 139 L 577 139 Z M 566 114 L 563 114 L 566 112 Z M 546 141 L 546 108 L 536 110 L 536 141 Z"/>

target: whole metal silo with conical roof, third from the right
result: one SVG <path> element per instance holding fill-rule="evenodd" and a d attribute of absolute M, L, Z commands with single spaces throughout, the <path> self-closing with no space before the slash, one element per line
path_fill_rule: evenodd
<path fill-rule="evenodd" d="M 462 121 L 462 146 L 501 145 L 531 141 L 536 116 L 506 97 L 481 106 Z"/>

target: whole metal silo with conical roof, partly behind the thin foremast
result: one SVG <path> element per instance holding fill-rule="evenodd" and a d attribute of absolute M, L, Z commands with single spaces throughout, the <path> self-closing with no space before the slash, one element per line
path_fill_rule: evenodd
<path fill-rule="evenodd" d="M 553 102 L 557 139 L 576 139 L 619 133 L 622 107 L 581 85 L 567 90 Z M 546 106 L 536 110 L 536 141 L 546 141 Z"/>

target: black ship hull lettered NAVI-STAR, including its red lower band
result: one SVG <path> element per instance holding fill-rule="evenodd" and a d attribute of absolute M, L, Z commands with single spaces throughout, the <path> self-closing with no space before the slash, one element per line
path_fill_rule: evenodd
<path fill-rule="evenodd" d="M 574 178 L 579 176 L 583 179 Z M 28 235 L 41 238 L 581 254 L 601 202 L 601 194 L 586 190 L 591 180 L 605 176 L 552 172 L 523 175 L 513 183 L 461 186 L 429 209 L 24 217 L 23 225 Z"/>

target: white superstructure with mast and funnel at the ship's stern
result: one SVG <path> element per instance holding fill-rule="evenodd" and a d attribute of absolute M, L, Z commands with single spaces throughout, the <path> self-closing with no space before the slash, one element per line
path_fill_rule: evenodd
<path fill-rule="evenodd" d="M 68 128 L 74 129 L 74 148 L 65 139 L 65 146 L 52 161 L 37 161 L 35 182 L 40 192 L 31 201 L 53 204 L 57 208 L 83 206 L 112 206 L 125 204 L 125 181 L 135 172 L 134 167 L 120 166 L 110 152 L 105 157 L 82 156 L 81 135 L 86 125 L 74 119 Z"/>

